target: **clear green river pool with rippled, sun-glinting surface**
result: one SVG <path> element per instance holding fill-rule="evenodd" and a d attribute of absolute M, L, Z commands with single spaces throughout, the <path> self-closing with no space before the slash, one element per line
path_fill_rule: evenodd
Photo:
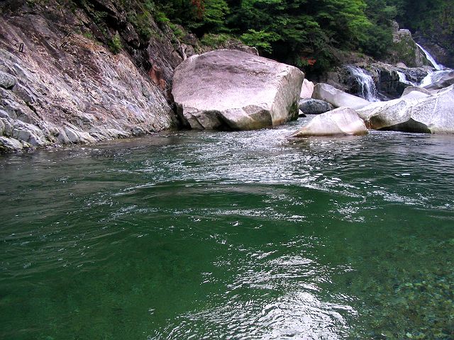
<path fill-rule="evenodd" d="M 454 137 L 0 157 L 0 339 L 454 339 Z"/>

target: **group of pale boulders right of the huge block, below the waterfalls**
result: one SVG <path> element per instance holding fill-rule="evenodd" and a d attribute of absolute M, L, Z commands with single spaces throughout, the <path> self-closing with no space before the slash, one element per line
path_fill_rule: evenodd
<path fill-rule="evenodd" d="M 409 86 L 400 98 L 390 101 L 370 103 L 328 84 L 316 84 L 311 97 L 301 98 L 301 110 L 322 114 L 292 137 L 362 135 L 367 129 L 454 133 L 454 72 L 445 72 L 425 87 Z M 336 109 L 324 110 L 323 103 Z"/>

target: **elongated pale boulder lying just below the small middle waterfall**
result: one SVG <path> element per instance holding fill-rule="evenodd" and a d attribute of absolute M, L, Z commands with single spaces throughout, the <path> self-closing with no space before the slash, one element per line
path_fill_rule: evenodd
<path fill-rule="evenodd" d="M 327 101 L 331 103 L 335 108 L 341 108 L 343 106 L 353 109 L 363 108 L 370 104 L 363 98 L 353 96 L 353 94 L 347 94 L 341 90 L 336 89 L 334 86 L 319 83 L 314 87 L 314 94 L 312 98 L 320 99 L 321 101 Z"/>

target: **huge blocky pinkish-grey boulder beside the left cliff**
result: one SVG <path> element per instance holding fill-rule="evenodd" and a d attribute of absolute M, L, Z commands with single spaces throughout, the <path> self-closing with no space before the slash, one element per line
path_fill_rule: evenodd
<path fill-rule="evenodd" d="M 172 94 L 193 129 L 253 130 L 298 117 L 304 74 L 238 50 L 194 55 L 175 69 Z"/>

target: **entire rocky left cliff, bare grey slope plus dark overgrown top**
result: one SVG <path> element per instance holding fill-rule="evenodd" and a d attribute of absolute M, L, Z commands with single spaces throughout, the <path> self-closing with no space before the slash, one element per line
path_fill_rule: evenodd
<path fill-rule="evenodd" d="M 116 1 L 0 6 L 0 150 L 175 126 L 169 94 L 183 58 L 152 18 L 143 33 Z"/>

